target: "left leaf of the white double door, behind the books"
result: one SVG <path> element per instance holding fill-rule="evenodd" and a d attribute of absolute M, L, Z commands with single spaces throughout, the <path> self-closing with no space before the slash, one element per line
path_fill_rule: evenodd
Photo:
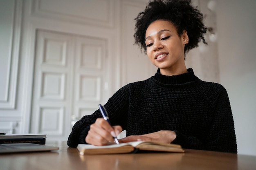
<path fill-rule="evenodd" d="M 72 35 L 37 31 L 30 132 L 60 139 L 67 136 L 73 44 Z"/>

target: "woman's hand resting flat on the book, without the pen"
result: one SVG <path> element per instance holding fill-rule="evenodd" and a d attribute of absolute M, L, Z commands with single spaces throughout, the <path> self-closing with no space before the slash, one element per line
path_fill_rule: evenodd
<path fill-rule="evenodd" d="M 131 135 L 123 139 L 119 139 L 119 142 L 126 143 L 130 141 L 156 141 L 170 144 L 175 138 L 176 133 L 174 131 L 160 130 L 158 132 L 148 133 L 145 135 Z"/>

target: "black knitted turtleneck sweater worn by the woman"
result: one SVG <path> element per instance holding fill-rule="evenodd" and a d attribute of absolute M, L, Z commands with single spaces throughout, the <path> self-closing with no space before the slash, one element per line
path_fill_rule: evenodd
<path fill-rule="evenodd" d="M 237 153 L 234 120 L 227 91 L 217 83 L 204 82 L 191 68 L 188 73 L 161 75 L 120 88 L 105 104 L 112 125 L 126 136 L 173 130 L 172 142 L 182 148 Z M 67 144 L 86 144 L 90 125 L 99 110 L 74 125 Z"/>

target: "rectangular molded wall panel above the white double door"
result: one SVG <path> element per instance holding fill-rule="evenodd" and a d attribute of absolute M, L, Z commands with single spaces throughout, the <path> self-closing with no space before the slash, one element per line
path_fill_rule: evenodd
<path fill-rule="evenodd" d="M 100 2 L 96 2 L 100 1 Z M 88 24 L 95 26 L 104 26 L 107 28 L 114 28 L 114 2 L 115 0 L 94 0 L 94 1 L 80 1 L 83 2 L 82 6 L 76 7 L 70 6 L 68 3 L 74 4 L 74 1 L 57 1 L 51 0 L 50 5 L 47 5 L 48 1 L 43 0 L 31 0 L 31 16 L 51 18 L 55 20 L 63 20 L 66 22 L 75 22 L 77 24 Z M 63 5 L 63 3 L 66 3 Z M 106 3 L 106 5 L 99 6 L 99 3 Z M 79 4 L 79 3 L 78 3 Z M 102 13 L 95 13 L 93 8 L 89 6 L 105 7 L 99 9 L 105 11 L 105 15 Z M 68 10 L 61 11 L 61 7 L 70 7 Z M 56 8 L 55 8 L 56 7 Z M 72 7 L 72 8 L 71 8 Z M 55 8 L 55 9 L 54 9 Z M 59 10 L 58 10 L 59 9 Z M 95 15 L 97 14 L 97 15 Z"/>

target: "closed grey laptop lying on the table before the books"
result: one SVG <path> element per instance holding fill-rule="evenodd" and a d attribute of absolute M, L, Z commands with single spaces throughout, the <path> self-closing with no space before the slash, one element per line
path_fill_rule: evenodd
<path fill-rule="evenodd" d="M 0 153 L 14 153 L 14 152 L 38 152 L 38 151 L 51 151 L 58 150 L 58 147 L 47 146 L 40 144 L 0 144 Z"/>

